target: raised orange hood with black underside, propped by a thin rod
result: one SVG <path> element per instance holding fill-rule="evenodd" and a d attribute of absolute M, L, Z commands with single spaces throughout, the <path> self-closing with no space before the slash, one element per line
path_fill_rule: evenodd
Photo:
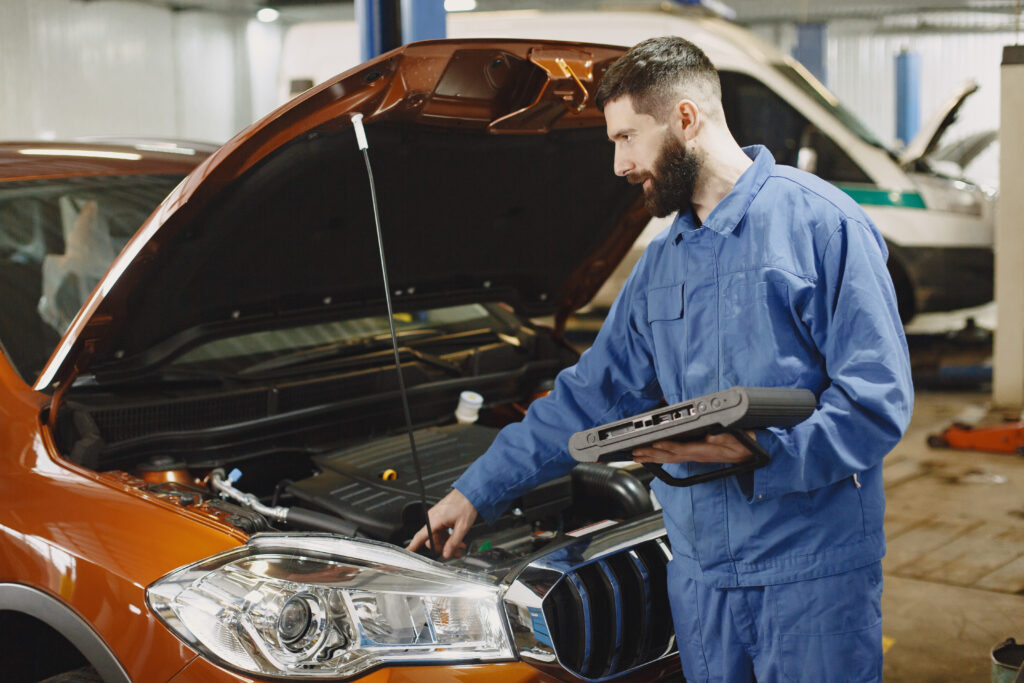
<path fill-rule="evenodd" d="M 398 310 L 563 321 L 648 216 L 593 96 L 625 48 L 427 41 L 313 88 L 214 153 L 115 260 L 36 382 L 152 368 L 216 336 L 384 310 L 362 114 Z"/>

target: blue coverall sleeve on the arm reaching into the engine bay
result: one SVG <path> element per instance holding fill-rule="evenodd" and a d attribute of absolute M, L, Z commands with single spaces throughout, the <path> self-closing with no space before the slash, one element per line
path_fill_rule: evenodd
<path fill-rule="evenodd" d="M 593 346 L 453 484 L 488 523 L 513 499 L 572 469 L 572 433 L 641 413 L 660 399 L 650 346 L 639 327 L 644 324 L 639 311 L 646 309 L 636 284 L 640 268 L 623 287 Z"/>

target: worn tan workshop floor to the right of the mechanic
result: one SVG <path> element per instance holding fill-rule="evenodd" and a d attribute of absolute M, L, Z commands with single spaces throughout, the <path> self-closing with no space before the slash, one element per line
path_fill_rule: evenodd
<path fill-rule="evenodd" d="M 992 646 L 1024 641 L 1024 458 L 926 442 L 953 421 L 1009 417 L 988 398 L 919 390 L 886 459 L 886 681 L 989 681 Z"/>

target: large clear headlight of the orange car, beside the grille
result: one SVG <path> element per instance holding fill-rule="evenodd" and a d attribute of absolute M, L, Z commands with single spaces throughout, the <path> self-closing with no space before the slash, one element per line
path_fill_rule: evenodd
<path fill-rule="evenodd" d="M 146 600 L 189 645 L 250 674 L 514 658 L 497 586 L 372 541 L 257 535 L 160 579 Z"/>

